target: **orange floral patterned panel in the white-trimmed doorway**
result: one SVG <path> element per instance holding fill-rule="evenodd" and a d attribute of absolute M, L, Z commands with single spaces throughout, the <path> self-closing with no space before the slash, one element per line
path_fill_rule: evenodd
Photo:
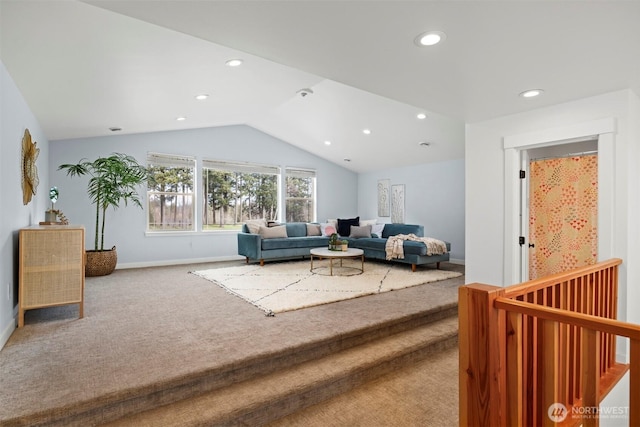
<path fill-rule="evenodd" d="M 598 156 L 532 161 L 529 279 L 594 264 L 598 250 Z"/>

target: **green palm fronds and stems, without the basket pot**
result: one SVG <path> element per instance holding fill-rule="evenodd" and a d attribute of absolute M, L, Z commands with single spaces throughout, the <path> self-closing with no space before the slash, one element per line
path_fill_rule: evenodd
<path fill-rule="evenodd" d="M 87 194 L 96 205 L 95 250 L 104 250 L 105 218 L 108 207 L 117 209 L 120 203 L 129 202 L 142 208 L 137 187 L 149 179 L 147 169 L 131 156 L 113 153 L 109 157 L 98 157 L 90 162 L 81 159 L 76 164 L 63 164 L 58 170 L 66 170 L 68 176 L 89 175 Z M 101 218 L 102 217 L 102 218 Z M 101 223 L 102 220 L 102 223 Z M 100 230 L 100 245 L 98 245 Z"/>

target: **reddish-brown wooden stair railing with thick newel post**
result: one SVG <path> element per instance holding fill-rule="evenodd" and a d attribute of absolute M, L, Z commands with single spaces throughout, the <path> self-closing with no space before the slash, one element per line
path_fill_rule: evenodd
<path fill-rule="evenodd" d="M 640 402 L 640 326 L 615 320 L 620 264 L 460 288 L 461 426 L 598 425 L 600 402 L 629 369 L 630 402 Z M 630 338 L 630 365 L 615 360 L 616 336 Z M 640 426 L 640 408 L 625 410 Z"/>

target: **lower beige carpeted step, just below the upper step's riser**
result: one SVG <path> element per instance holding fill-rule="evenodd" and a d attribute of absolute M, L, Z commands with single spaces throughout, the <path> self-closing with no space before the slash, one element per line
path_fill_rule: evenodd
<path fill-rule="evenodd" d="M 108 425 L 263 425 L 454 347 L 457 337 L 450 316 Z"/>

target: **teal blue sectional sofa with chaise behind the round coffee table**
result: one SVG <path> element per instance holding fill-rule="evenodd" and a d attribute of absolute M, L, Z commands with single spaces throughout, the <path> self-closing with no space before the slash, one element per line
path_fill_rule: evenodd
<path fill-rule="evenodd" d="M 326 236 L 307 236 L 307 225 L 304 222 L 289 222 L 286 226 L 286 238 L 263 239 L 260 234 L 249 232 L 246 224 L 242 226 L 242 232 L 238 233 L 238 254 L 249 261 L 259 261 L 264 265 L 265 260 L 308 257 L 309 250 L 329 245 Z M 424 237 L 424 227 L 412 224 L 385 224 L 382 237 L 362 237 L 358 239 L 341 237 L 349 241 L 349 247 L 364 250 L 365 258 L 386 260 L 385 245 L 389 236 L 397 234 L 415 234 Z M 440 268 L 442 261 L 449 261 L 451 244 L 447 244 L 447 253 L 442 255 L 427 256 L 427 248 L 422 242 L 405 241 L 404 259 L 393 259 L 393 262 L 411 264 L 411 270 L 415 271 L 418 265 L 436 264 Z"/>

